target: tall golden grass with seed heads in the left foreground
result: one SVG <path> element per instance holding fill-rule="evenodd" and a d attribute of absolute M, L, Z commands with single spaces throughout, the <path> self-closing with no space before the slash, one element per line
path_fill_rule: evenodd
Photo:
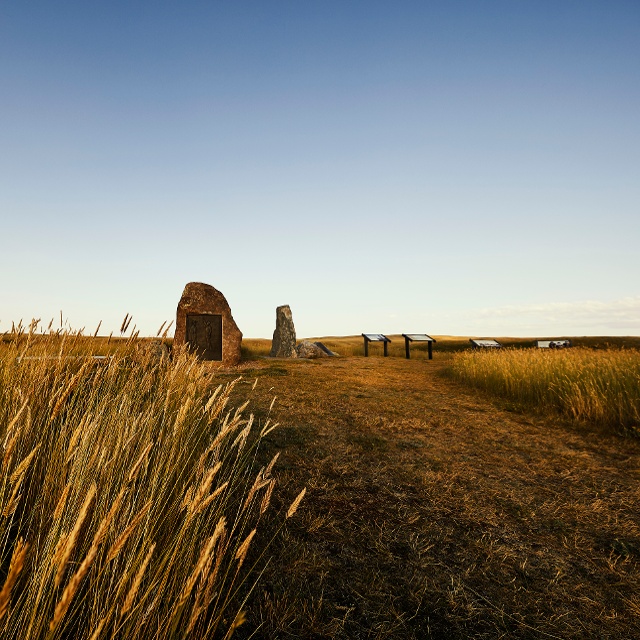
<path fill-rule="evenodd" d="M 0 637 L 230 637 L 267 542 L 273 465 L 252 469 L 273 425 L 188 354 L 81 342 L 0 354 Z"/>

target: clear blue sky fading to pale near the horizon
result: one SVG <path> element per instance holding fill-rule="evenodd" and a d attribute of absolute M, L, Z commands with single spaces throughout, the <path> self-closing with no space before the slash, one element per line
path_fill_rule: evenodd
<path fill-rule="evenodd" d="M 0 4 L 0 332 L 640 335 L 640 3 Z"/>

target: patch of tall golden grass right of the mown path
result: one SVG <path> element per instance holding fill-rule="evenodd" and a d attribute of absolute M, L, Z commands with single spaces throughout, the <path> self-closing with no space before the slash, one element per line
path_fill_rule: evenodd
<path fill-rule="evenodd" d="M 466 351 L 454 377 L 517 403 L 640 435 L 640 351 Z"/>

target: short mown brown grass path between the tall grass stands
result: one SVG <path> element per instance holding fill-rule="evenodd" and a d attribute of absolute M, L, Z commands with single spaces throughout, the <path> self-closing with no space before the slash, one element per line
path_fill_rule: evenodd
<path fill-rule="evenodd" d="M 255 594 L 260 637 L 640 637 L 640 444 L 509 411 L 445 366 L 242 372 L 259 418 L 277 396 L 283 504 L 308 487 Z"/>

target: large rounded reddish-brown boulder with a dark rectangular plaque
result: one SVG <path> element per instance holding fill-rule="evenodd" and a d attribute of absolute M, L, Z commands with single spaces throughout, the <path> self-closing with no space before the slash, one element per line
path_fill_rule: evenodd
<path fill-rule="evenodd" d="M 190 282 L 178 303 L 174 352 L 189 348 L 202 360 L 228 367 L 240 362 L 241 344 L 242 331 L 222 293 L 211 285 Z"/>

